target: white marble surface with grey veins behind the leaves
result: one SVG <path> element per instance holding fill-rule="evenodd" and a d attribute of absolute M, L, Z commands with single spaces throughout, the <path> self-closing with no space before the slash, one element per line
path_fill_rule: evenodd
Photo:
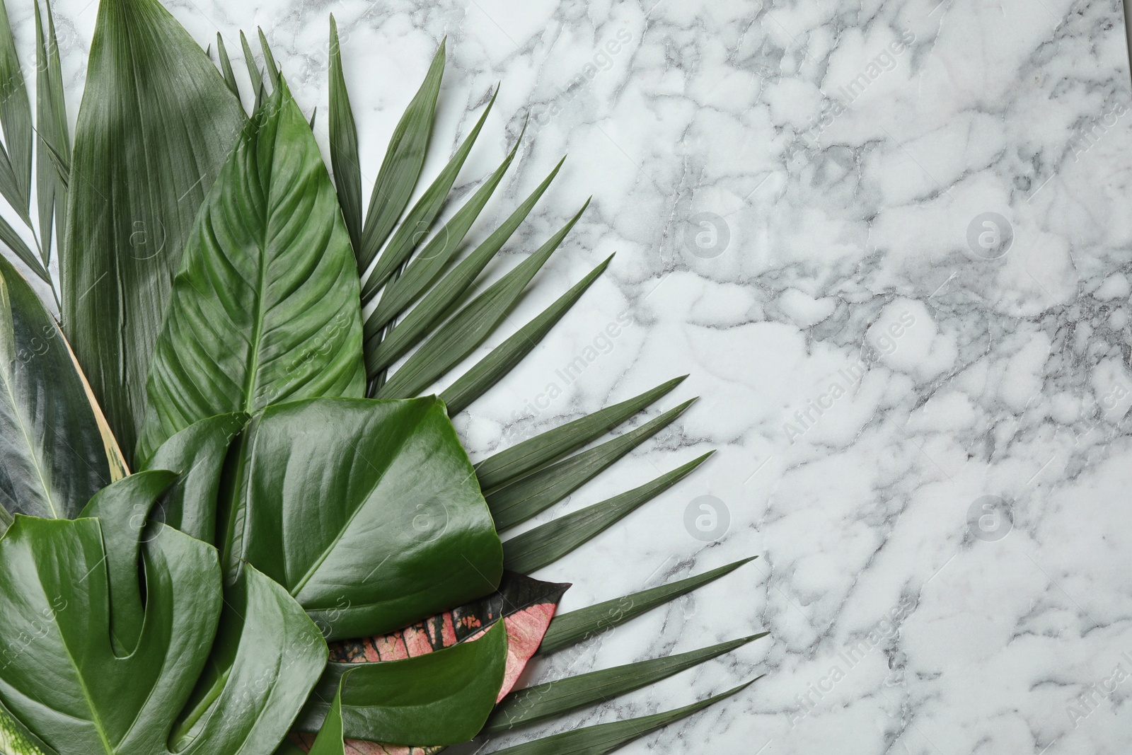
<path fill-rule="evenodd" d="M 237 29 L 263 26 L 323 113 L 333 12 L 368 182 L 447 35 L 430 172 L 497 81 L 461 194 L 531 117 L 477 238 L 569 153 L 501 267 L 593 203 L 512 319 L 617 257 L 458 418 L 475 457 L 691 372 L 662 402 L 701 396 L 677 426 L 538 521 L 717 456 L 538 576 L 575 583 L 569 609 L 758 559 L 530 677 L 773 638 L 544 730 L 765 674 L 624 752 L 1129 752 L 1120 2 L 166 5 L 203 43 L 221 31 L 235 62 Z M 31 5 L 9 7 L 29 50 Z M 58 2 L 72 119 L 95 11 Z"/>

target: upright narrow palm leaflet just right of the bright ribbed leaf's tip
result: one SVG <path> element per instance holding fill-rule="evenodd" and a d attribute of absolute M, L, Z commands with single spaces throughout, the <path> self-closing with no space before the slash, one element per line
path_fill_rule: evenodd
<path fill-rule="evenodd" d="M 331 166 L 334 186 L 338 191 L 342 217 L 350 232 L 350 244 L 355 254 L 361 249 L 361 166 L 358 158 L 358 127 L 342 70 L 342 48 L 338 44 L 338 25 L 331 14 Z"/>

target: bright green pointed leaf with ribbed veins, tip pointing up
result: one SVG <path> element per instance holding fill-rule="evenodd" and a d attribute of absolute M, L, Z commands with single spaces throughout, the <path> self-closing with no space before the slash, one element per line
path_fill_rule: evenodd
<path fill-rule="evenodd" d="M 365 393 L 358 273 L 334 186 L 280 79 L 185 246 L 138 456 L 230 412 Z"/>

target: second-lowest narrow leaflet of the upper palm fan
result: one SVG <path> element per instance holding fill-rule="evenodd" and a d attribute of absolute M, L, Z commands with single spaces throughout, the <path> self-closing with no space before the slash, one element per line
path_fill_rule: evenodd
<path fill-rule="evenodd" d="M 586 200 L 582 209 L 546 243 L 501 278 L 487 288 L 463 309 L 440 326 L 420 349 L 405 360 L 405 363 L 393 374 L 393 377 L 377 392 L 378 398 L 408 398 L 432 385 L 439 377 L 460 363 L 468 354 L 491 335 L 491 332 L 503 321 L 507 312 L 522 295 L 534 274 L 550 259 L 558 246 L 577 223 L 582 213 L 590 205 Z M 391 363 L 398 350 L 386 340 L 374 352 L 374 362 L 367 361 L 369 372 L 374 366 Z M 367 355 L 367 360 L 369 357 Z"/>

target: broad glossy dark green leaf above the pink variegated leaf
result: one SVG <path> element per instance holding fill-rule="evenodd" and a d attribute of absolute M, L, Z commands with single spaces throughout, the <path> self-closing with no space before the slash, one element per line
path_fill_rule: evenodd
<path fill-rule="evenodd" d="M 241 443 L 225 564 L 284 585 L 327 638 L 392 632 L 498 586 L 499 537 L 435 397 L 271 406 Z"/>

